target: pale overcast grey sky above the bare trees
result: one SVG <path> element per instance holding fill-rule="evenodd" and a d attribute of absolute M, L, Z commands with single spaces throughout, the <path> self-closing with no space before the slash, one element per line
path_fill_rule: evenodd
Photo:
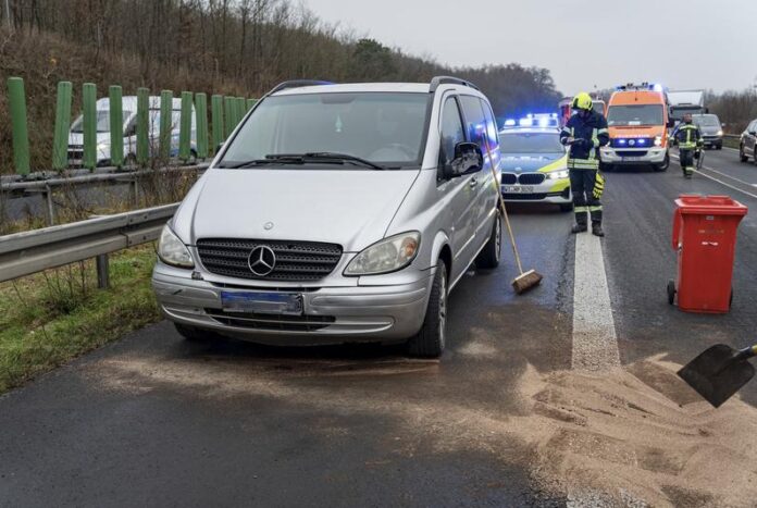
<path fill-rule="evenodd" d="M 302 2 L 323 21 L 439 63 L 546 67 L 567 95 L 634 80 L 722 91 L 757 77 L 757 0 Z"/>

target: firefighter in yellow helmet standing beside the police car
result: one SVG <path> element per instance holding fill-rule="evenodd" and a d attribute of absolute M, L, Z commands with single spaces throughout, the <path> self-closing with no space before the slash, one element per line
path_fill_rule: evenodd
<path fill-rule="evenodd" d="M 568 120 L 560 133 L 560 141 L 570 147 L 568 153 L 568 172 L 570 189 L 573 193 L 573 211 L 575 224 L 572 233 L 588 230 L 586 212 L 592 218 L 592 233 L 605 236 L 601 230 L 601 193 L 605 178 L 599 172 L 599 147 L 610 140 L 607 121 L 592 109 L 592 97 L 581 92 L 573 98 L 571 108 L 575 114 Z"/>

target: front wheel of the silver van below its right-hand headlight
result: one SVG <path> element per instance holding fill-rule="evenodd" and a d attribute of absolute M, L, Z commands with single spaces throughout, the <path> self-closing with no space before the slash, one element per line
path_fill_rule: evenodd
<path fill-rule="evenodd" d="M 408 354 L 420 358 L 438 358 L 444 352 L 447 333 L 447 265 L 436 263 L 429 306 L 421 330 L 408 340 Z"/>

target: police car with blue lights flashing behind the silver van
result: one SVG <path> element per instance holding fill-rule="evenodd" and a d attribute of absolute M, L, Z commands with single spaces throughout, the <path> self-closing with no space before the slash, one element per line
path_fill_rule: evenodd
<path fill-rule="evenodd" d="M 568 176 L 568 153 L 560 144 L 557 115 L 508 120 L 499 131 L 506 201 L 538 201 L 573 209 Z"/>

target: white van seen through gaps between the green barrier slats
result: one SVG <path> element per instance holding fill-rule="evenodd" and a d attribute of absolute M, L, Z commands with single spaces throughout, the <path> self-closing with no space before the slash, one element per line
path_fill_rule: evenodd
<path fill-rule="evenodd" d="M 174 98 L 171 111 L 171 157 L 178 154 L 178 132 L 182 117 L 182 99 Z M 149 152 L 158 153 L 160 145 L 160 97 L 149 98 L 148 113 L 148 139 Z M 110 165 L 111 136 L 110 136 L 110 99 L 104 97 L 96 102 L 96 129 L 97 129 L 97 165 Z M 122 98 L 124 120 L 124 160 L 133 164 L 137 159 L 137 97 L 126 96 Z M 191 109 L 191 157 L 197 157 L 197 121 L 195 107 Z M 69 165 L 80 166 L 84 157 L 84 116 L 79 115 L 71 125 L 69 134 Z"/>

